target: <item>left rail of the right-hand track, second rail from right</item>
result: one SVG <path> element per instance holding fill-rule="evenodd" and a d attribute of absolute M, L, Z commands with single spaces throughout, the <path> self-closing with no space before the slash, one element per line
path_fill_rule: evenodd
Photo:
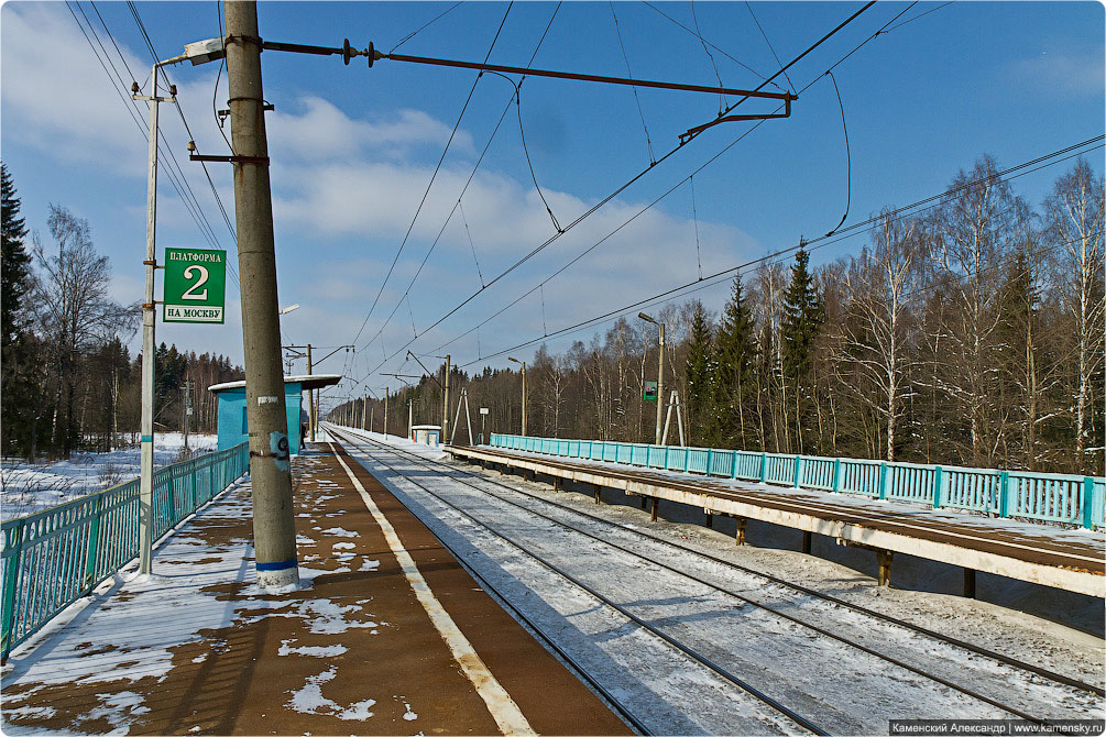
<path fill-rule="evenodd" d="M 371 442 L 377 443 L 377 441 L 371 441 Z M 383 445 L 383 443 L 377 443 L 377 444 Z M 416 461 L 417 463 L 419 463 L 424 467 L 428 467 L 428 468 L 435 468 L 436 467 L 432 463 L 426 462 L 425 459 L 421 459 L 417 454 L 408 453 L 408 452 L 403 451 L 400 449 L 390 448 L 390 446 L 388 448 L 388 450 L 390 450 L 393 452 L 396 452 L 396 453 L 399 453 L 399 454 L 403 454 L 403 455 L 407 455 L 411 460 Z M 556 504 L 556 503 L 553 503 L 553 502 L 549 502 L 547 499 L 542 499 L 541 497 L 536 497 L 534 495 L 528 494 L 526 492 L 522 492 L 521 489 L 515 489 L 512 486 L 509 486 L 507 484 L 502 484 L 502 483 L 497 482 L 494 480 L 483 478 L 483 477 L 479 476 L 479 474 L 477 474 L 477 476 L 480 477 L 482 481 L 484 481 L 484 482 L 487 482 L 489 484 L 492 484 L 494 486 L 502 486 L 503 488 L 507 488 L 509 491 L 513 491 L 513 492 L 523 494 L 525 496 L 530 496 L 531 498 L 536 498 L 539 501 L 546 502 L 547 504 L 551 504 L 551 505 L 556 506 L 559 508 L 562 508 L 562 509 L 565 509 L 565 510 L 570 510 L 570 512 L 575 512 L 575 509 L 572 509 L 571 507 L 565 507 L 563 505 L 560 505 L 560 504 Z M 453 477 L 453 480 L 455 481 L 459 481 L 460 483 L 462 483 L 462 484 L 465 484 L 467 486 L 470 486 L 471 488 L 476 489 L 477 492 L 481 492 L 481 493 L 484 493 L 484 494 L 488 493 L 487 489 L 481 489 L 478 486 L 476 486 L 474 484 L 463 482 L 463 481 L 461 481 L 459 478 L 456 478 L 456 477 Z M 920 675 L 920 676 L 922 676 L 925 678 L 928 678 L 930 681 L 939 683 L 942 686 L 947 686 L 949 688 L 952 688 L 953 691 L 958 691 L 958 692 L 964 694 L 966 696 L 969 696 L 971 698 L 981 701 L 981 702 L 983 702 L 985 704 L 990 704 L 991 706 L 1000 708 L 1000 709 L 1002 709 L 1004 712 L 1008 712 L 1008 713 L 1010 713 L 1010 714 L 1012 714 L 1014 716 L 1021 717 L 1022 719 L 1025 719 L 1027 722 L 1033 722 L 1034 724 L 1039 724 L 1039 725 L 1044 725 L 1044 724 L 1047 723 L 1046 719 L 1043 719 L 1041 717 L 1032 716 L 1032 715 L 1030 715 L 1030 714 L 1027 714 L 1025 712 L 1022 712 L 1022 710 L 1018 709 L 1016 707 L 1009 706 L 1006 704 L 1003 704 L 1002 702 L 999 702 L 999 701 L 997 701 L 994 698 L 991 698 L 990 696 L 987 696 L 987 695 L 981 694 L 979 692 L 972 691 L 971 688 L 968 688 L 968 687 L 964 687 L 964 686 L 960 686 L 957 683 L 954 683 L 952 681 L 949 681 L 948 678 L 945 678 L 945 677 L 939 676 L 939 675 L 935 675 L 935 674 L 932 674 L 932 673 L 930 673 L 928 671 L 925 671 L 925 670 L 922 670 L 922 668 L 920 668 L 918 666 L 915 666 L 915 665 L 911 665 L 911 664 L 906 663 L 904 661 L 900 661 L 897 657 L 894 657 L 891 655 L 887 655 L 886 653 L 878 652 L 878 651 L 876 651 L 876 650 L 874 650 L 872 647 L 868 647 L 866 645 L 862 645 L 860 643 L 855 642 L 853 640 L 849 640 L 848 638 L 846 638 L 844 635 L 831 632 L 831 631 L 828 631 L 828 630 L 826 630 L 826 629 L 824 629 L 822 627 L 818 627 L 816 624 L 811 624 L 810 622 L 806 622 L 806 621 L 804 621 L 804 620 L 802 620 L 802 619 L 800 619 L 797 617 L 794 617 L 792 614 L 787 614 L 786 612 L 780 611 L 779 609 L 775 609 L 774 607 L 771 607 L 769 604 L 755 601 L 753 599 L 749 599 L 748 597 L 744 597 L 744 596 L 742 596 L 740 593 L 737 593 L 734 591 L 730 591 L 729 589 L 726 589 L 726 588 L 723 588 L 721 586 L 718 586 L 717 583 L 712 583 L 712 582 L 710 582 L 708 580 L 705 580 L 705 579 L 702 579 L 702 578 L 700 578 L 698 576 L 695 576 L 695 575 L 689 573 L 687 571 L 680 570 L 680 569 L 678 569 L 678 568 L 676 568 L 674 566 L 669 566 L 668 564 L 665 564 L 665 562 L 661 562 L 659 560 L 656 560 L 656 559 L 654 559 L 654 558 L 651 558 L 649 556 L 643 555 L 643 554 L 640 554 L 640 552 L 638 552 L 636 550 L 632 550 L 632 549 L 626 548 L 626 547 L 624 547 L 622 545 L 617 545 L 615 543 L 612 543 L 611 540 L 607 540 L 607 539 L 605 539 L 603 537 L 599 537 L 598 535 L 594 535 L 594 534 L 588 533 L 586 530 L 580 529 L 578 527 L 573 527 L 572 525 L 568 525 L 568 524 L 566 524 L 566 523 L 564 523 L 564 522 L 562 522 L 560 519 L 555 519 L 555 518 L 553 518 L 553 517 L 551 517 L 549 515 L 545 515 L 545 514 L 543 514 L 541 512 L 532 509 L 532 508 L 530 508 L 528 506 L 524 506 L 524 505 L 519 504 L 517 502 L 513 502 L 511 499 L 503 498 L 503 497 L 499 496 L 498 494 L 492 494 L 492 496 L 494 498 L 497 498 L 498 501 L 500 501 L 500 502 L 503 502 L 505 504 L 510 504 L 510 505 L 512 505 L 514 507 L 518 507 L 518 508 L 520 508 L 520 509 L 522 509 L 524 512 L 528 512 L 529 514 L 536 515 L 538 517 L 541 517 L 542 519 L 546 519 L 546 520 L 549 520 L 549 522 L 551 522 L 551 523 L 553 523 L 555 525 L 560 525 L 561 527 L 564 527 L 566 529 L 570 529 L 570 530 L 573 530 L 575 533 L 578 533 L 581 535 L 589 537 L 589 538 L 592 538 L 594 540 L 598 540 L 599 543 L 603 543 L 603 544 L 605 544 L 605 545 L 607 545 L 609 547 L 613 547 L 616 550 L 620 550 L 620 551 L 626 552 L 628 555 L 632 555 L 632 556 L 634 556 L 636 558 L 639 558 L 641 560 L 648 561 L 648 562 L 650 562 L 650 564 L 653 564 L 655 566 L 659 566 L 660 568 L 664 568 L 665 570 L 669 570 L 669 571 L 671 571 L 674 573 L 677 573 L 678 576 L 682 576 L 685 578 L 688 578 L 688 579 L 690 579 L 692 581 L 696 581 L 697 583 L 706 586 L 706 587 L 708 587 L 710 589 L 713 589 L 713 590 L 716 590 L 716 591 L 718 591 L 720 593 L 724 593 L 727 596 L 733 597 L 734 599 L 743 601 L 744 603 L 751 604 L 751 606 L 753 606 L 753 607 L 755 607 L 758 609 L 762 609 L 762 610 L 764 610 L 766 612 L 775 614 L 776 617 L 780 617 L 781 619 L 785 619 L 785 620 L 787 620 L 790 622 L 794 622 L 795 624 L 799 624 L 800 627 L 804 627 L 804 628 L 807 628 L 810 630 L 813 630 L 814 632 L 817 632 L 818 634 L 822 634 L 822 635 L 825 635 L 825 636 L 831 638 L 833 640 L 836 640 L 836 641 L 838 641 L 838 642 L 841 642 L 841 643 L 843 643 L 843 644 L 845 644 L 845 645 L 847 645 L 849 647 L 854 647 L 856 650 L 859 650 L 860 652 L 867 653 L 868 655 L 873 655 L 874 657 L 878 657 L 878 659 L 880 659 L 880 660 L 883 660 L 883 661 L 885 661 L 887 663 L 890 663 L 890 664 L 896 665 L 898 667 L 901 667 L 901 668 L 904 668 L 906 671 L 909 671 L 910 673 L 915 673 L 916 675 Z M 580 513 L 580 514 L 586 515 L 586 513 Z M 594 517 L 593 515 L 587 515 L 587 516 Z M 599 517 L 594 517 L 594 518 L 595 519 L 602 519 Z M 608 523 L 608 524 L 614 524 L 614 523 Z M 622 528 L 622 529 L 624 529 L 626 531 L 637 531 L 637 530 L 628 530 L 627 528 L 623 527 L 622 525 L 616 525 L 616 526 L 618 526 L 619 528 Z M 646 537 L 651 537 L 651 536 L 646 536 Z"/>

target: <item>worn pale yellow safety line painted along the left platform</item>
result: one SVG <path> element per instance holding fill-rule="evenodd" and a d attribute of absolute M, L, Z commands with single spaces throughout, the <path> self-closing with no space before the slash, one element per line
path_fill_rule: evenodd
<path fill-rule="evenodd" d="M 330 443 L 330 446 L 333 452 L 334 444 Z M 500 730 L 504 735 L 536 735 L 538 733 L 526 722 L 526 717 L 522 715 L 519 705 L 514 703 L 514 699 L 507 693 L 507 689 L 499 684 L 499 681 L 491 674 L 484 662 L 480 660 L 480 655 L 477 654 L 472 644 L 461 633 L 461 630 L 441 606 L 441 602 L 434 596 L 426 579 L 422 578 L 422 573 L 419 572 L 418 567 L 411 559 L 410 554 L 404 549 L 404 545 L 399 540 L 399 536 L 396 534 L 392 523 L 388 522 L 388 518 L 384 516 L 380 508 L 373 502 L 373 497 L 369 496 L 365 487 L 357 481 L 357 476 L 346 465 L 345 460 L 337 453 L 334 453 L 334 457 L 345 468 L 349 481 L 353 482 L 354 488 L 361 494 L 362 501 L 373 515 L 373 519 L 380 526 L 380 529 L 384 531 L 384 538 L 388 541 L 388 547 L 392 548 L 396 560 L 399 561 L 399 567 L 403 568 L 404 576 L 407 577 L 407 582 L 410 583 L 411 590 L 415 591 L 415 597 L 430 617 L 430 621 L 438 630 L 438 634 L 441 635 L 450 653 L 452 653 L 453 660 L 457 661 L 465 675 L 472 682 L 477 693 L 480 694 L 480 698 L 488 706 L 488 712 L 491 713 L 492 718 L 495 719 L 495 724 L 499 725 Z"/>

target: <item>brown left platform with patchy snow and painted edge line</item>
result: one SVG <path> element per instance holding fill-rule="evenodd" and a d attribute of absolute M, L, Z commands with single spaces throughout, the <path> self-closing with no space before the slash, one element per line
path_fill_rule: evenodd
<path fill-rule="evenodd" d="M 4 733 L 633 734 L 344 451 L 293 471 L 301 588 L 231 487 L 11 654 Z"/>

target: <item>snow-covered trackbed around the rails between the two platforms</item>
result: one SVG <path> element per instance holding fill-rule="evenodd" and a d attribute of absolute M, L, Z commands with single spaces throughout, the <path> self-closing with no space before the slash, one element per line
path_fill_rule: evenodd
<path fill-rule="evenodd" d="M 378 435 L 374 438 L 379 439 Z M 405 441 L 393 442 L 406 449 L 413 448 Z M 587 663 L 589 670 L 594 667 L 595 673 L 602 672 L 604 667 L 622 673 L 622 675 L 614 674 L 614 682 L 607 686 L 626 694 L 627 701 L 634 703 L 635 712 L 640 706 L 643 712 L 637 713 L 648 714 L 650 702 L 649 698 L 643 698 L 638 705 L 633 696 L 636 693 L 633 681 L 640 677 L 649 682 L 651 688 L 664 691 L 660 701 L 669 707 L 679 704 L 684 717 L 707 731 L 718 734 L 721 730 L 734 734 L 732 730 L 738 729 L 740 734 L 745 734 L 742 730 L 749 726 L 745 717 L 737 712 L 729 715 L 711 712 L 711 705 L 718 699 L 712 699 L 710 694 L 712 688 L 718 687 L 717 684 L 710 683 L 709 680 L 703 680 L 702 683 L 675 683 L 670 674 L 676 671 L 665 671 L 664 659 L 640 657 L 640 654 L 649 649 L 646 643 L 628 636 L 633 628 L 627 629 L 623 622 L 601 621 L 604 615 L 613 620 L 617 618 L 612 618 L 609 612 L 603 612 L 594 601 L 574 601 L 567 591 L 572 587 L 540 566 L 531 565 L 526 556 L 520 555 L 519 549 L 504 545 L 470 519 L 458 515 L 428 494 L 422 486 L 490 524 L 500 534 L 508 535 L 524 547 L 539 551 L 543 558 L 570 571 L 577 580 L 602 590 L 606 596 L 629 608 L 643 619 L 658 624 L 666 633 L 685 644 L 709 653 L 714 662 L 721 662 L 727 668 L 768 691 L 774 697 L 782 697 L 785 704 L 795 707 L 801 714 L 815 716 L 814 722 L 828 727 L 831 731 L 876 734 L 886 728 L 886 720 L 891 717 L 943 718 L 954 715 L 968 718 L 1003 718 L 1009 715 L 1002 709 L 977 702 L 966 694 L 950 692 L 924 676 L 890 665 L 842 642 L 782 621 L 765 610 L 750 607 L 740 599 L 706 588 L 681 573 L 655 568 L 641 558 L 616 548 L 608 548 L 598 540 L 617 541 L 648 558 L 662 560 L 679 571 L 693 573 L 722 586 L 728 591 L 734 591 L 749 600 L 763 602 L 780 611 L 794 614 L 803 621 L 816 622 L 820 627 L 836 632 L 847 640 L 860 642 L 1032 715 L 1050 718 L 1102 715 L 1102 699 L 1089 694 L 1042 683 L 1035 676 L 1029 676 L 1016 668 L 970 655 L 928 638 L 858 617 L 853 612 L 842 611 L 775 586 L 766 586 L 757 577 L 739 573 L 703 561 L 693 555 L 674 551 L 643 539 L 633 531 L 633 527 L 641 525 L 640 518 L 645 517 L 645 513 L 639 509 L 632 512 L 626 507 L 620 508 L 625 515 L 637 517 L 627 525 L 630 529 L 625 531 L 614 530 L 602 524 L 587 523 L 578 517 L 574 518 L 571 514 L 554 513 L 544 507 L 541 509 L 545 514 L 563 518 L 572 526 L 586 527 L 596 536 L 584 538 L 495 501 L 495 496 L 509 493 L 505 489 L 489 486 L 487 491 L 477 491 L 446 476 L 429 475 L 417 464 L 378 450 L 362 453 L 351 449 L 351 452 L 408 507 L 422 517 L 436 534 L 457 545 L 470 566 L 493 581 L 497 589 L 502 586 L 500 593 L 526 611 L 528 617 L 539 622 L 543 631 L 545 628 L 541 623 L 547 623 L 551 631 L 559 631 L 563 630 L 563 627 L 559 628 L 557 622 L 565 620 L 572 621 L 577 632 L 588 631 L 592 636 L 586 643 L 575 643 L 571 636 L 566 636 L 561 644 L 570 649 L 574 656 L 578 655 L 580 661 Z M 440 453 L 425 448 L 421 449 L 421 454 L 430 457 L 440 456 Z M 376 461 L 376 457 L 380 457 L 383 463 Z M 395 465 L 405 473 L 408 470 L 416 472 L 417 484 L 388 470 L 387 465 Z M 498 482 L 500 478 L 494 477 L 494 481 Z M 518 477 L 505 481 L 511 486 L 524 487 L 530 492 L 540 491 L 542 496 L 547 496 L 551 501 L 555 497 L 555 501 L 562 504 L 568 497 L 581 496 L 571 492 L 552 493 L 547 484 L 533 484 L 520 481 Z M 483 482 L 476 483 L 481 488 L 486 485 Z M 514 501 L 526 507 L 539 508 L 541 505 L 540 502 L 529 502 L 518 497 Z M 589 513 L 597 509 L 615 510 L 612 507 L 595 507 L 591 504 L 587 506 Z M 649 527 L 654 531 L 660 531 L 655 528 L 669 527 L 669 524 L 661 523 Z M 726 552 L 729 557 L 741 559 L 748 551 L 734 549 L 730 539 Z M 773 572 L 776 575 L 790 578 L 782 573 L 779 567 L 782 551 L 775 550 L 770 554 L 774 554 L 778 561 L 776 566 L 768 568 L 774 568 Z M 832 567 L 812 560 L 808 556 L 803 558 L 807 561 L 807 566 L 814 564 L 817 567 Z M 843 582 L 841 571 L 837 571 L 836 576 L 826 576 L 821 581 L 822 586 L 815 588 L 826 588 L 828 583 L 830 588 L 839 589 Z M 869 592 L 875 590 L 876 593 L 884 593 L 870 583 L 849 588 L 864 588 Z M 910 598 L 909 592 L 904 593 L 905 598 Z M 917 597 L 912 602 L 915 610 L 938 604 L 937 611 L 930 612 L 930 615 L 935 619 L 940 618 L 941 625 L 933 629 L 948 631 L 948 601 L 942 606 L 936 601 L 927 601 L 925 594 L 918 597 L 915 592 L 915 597 Z M 981 628 L 989 622 L 994 630 L 1008 627 L 1002 620 L 997 621 L 993 611 L 989 612 L 990 608 L 985 604 L 970 600 L 966 600 L 964 604 L 963 608 L 958 608 L 960 611 L 956 619 L 973 621 L 973 624 Z M 941 609 L 945 611 L 940 611 Z M 588 630 L 588 628 L 594 629 Z M 1064 642 L 1065 638 L 1060 632 L 1065 628 L 1055 625 L 1055 630 L 1060 636 L 1053 642 L 1050 642 L 1052 638 L 1040 635 L 1024 639 L 1014 654 L 1030 662 L 1037 662 L 1039 657 L 1034 651 L 1039 647 L 1044 652 L 1055 652 L 1057 645 L 1062 647 L 1070 644 Z M 1010 644 L 1009 631 L 1002 635 L 995 632 L 994 635 L 995 639 L 1003 640 L 1004 644 Z M 1075 663 L 1056 662 L 1064 660 L 1056 659 L 1054 664 L 1062 672 L 1078 673 L 1092 682 L 1100 682 L 1100 670 L 1091 663 L 1095 661 L 1095 653 L 1100 655 L 1102 650 L 1095 647 L 1093 638 L 1087 638 L 1083 642 L 1085 646 L 1089 645 L 1081 653 L 1084 657 L 1075 657 Z M 580 647 L 574 649 L 574 645 Z M 624 667 L 617 667 L 619 664 Z M 661 667 L 660 673 L 655 672 L 658 666 Z M 679 672 L 685 673 L 690 670 L 693 668 L 684 666 Z M 703 693 L 697 693 L 699 686 L 705 688 Z M 656 696 L 649 688 L 643 693 Z M 727 703 L 732 706 L 734 702 L 730 699 Z M 671 723 L 666 724 L 664 720 L 660 724 L 668 728 L 672 726 Z M 661 727 L 661 730 L 665 728 Z"/>

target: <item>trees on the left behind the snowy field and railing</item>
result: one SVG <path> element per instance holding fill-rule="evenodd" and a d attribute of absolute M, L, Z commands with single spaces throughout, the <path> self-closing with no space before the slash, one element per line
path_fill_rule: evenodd
<path fill-rule="evenodd" d="M 138 432 L 142 357 L 126 344 L 140 305 L 108 295 L 111 263 L 96 253 L 87 221 L 50 206 L 48 234 L 30 233 L 7 167 L 2 168 L 2 402 L 4 455 L 67 457 L 111 450 Z M 215 432 L 212 383 L 241 379 L 225 356 L 155 354 L 155 430 L 178 430 L 181 387 L 190 381 L 195 432 Z"/>

